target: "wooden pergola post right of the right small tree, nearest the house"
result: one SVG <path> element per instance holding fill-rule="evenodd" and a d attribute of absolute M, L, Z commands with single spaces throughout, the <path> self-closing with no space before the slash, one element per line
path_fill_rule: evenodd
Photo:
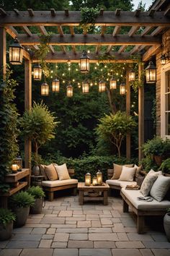
<path fill-rule="evenodd" d="M 138 67 L 138 79 L 141 80 L 143 73 L 143 64 L 140 63 Z M 141 146 L 144 143 L 144 87 L 138 88 L 138 159 L 143 158 Z"/>

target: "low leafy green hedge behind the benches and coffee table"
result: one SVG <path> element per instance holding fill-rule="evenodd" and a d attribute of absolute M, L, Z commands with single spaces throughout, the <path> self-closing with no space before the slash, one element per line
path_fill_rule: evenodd
<path fill-rule="evenodd" d="M 107 179 L 107 169 L 112 168 L 113 163 L 125 164 L 125 163 L 136 163 L 138 160 L 127 159 L 127 158 L 117 158 L 116 156 L 86 156 L 84 158 L 64 158 L 58 157 L 53 158 L 51 156 L 48 160 L 45 161 L 46 164 L 57 163 L 61 165 L 66 163 L 68 168 L 73 168 L 75 170 L 75 178 L 79 182 L 84 182 L 84 176 L 87 172 L 91 174 L 91 177 L 96 176 L 98 170 L 102 171 L 103 179 Z"/>

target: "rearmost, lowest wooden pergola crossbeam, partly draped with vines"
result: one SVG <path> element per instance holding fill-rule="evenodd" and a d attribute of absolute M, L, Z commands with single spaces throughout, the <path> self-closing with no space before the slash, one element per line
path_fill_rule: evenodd
<path fill-rule="evenodd" d="M 55 52 L 55 54 L 48 53 L 45 58 L 45 61 L 54 63 L 54 62 L 67 62 L 68 59 L 71 59 L 71 62 L 79 63 L 81 55 L 82 55 L 81 51 L 77 52 L 77 54 L 73 54 L 73 52 L 58 51 L 58 52 Z M 90 53 L 88 55 L 90 57 L 91 63 L 96 63 L 99 61 L 99 55 L 95 53 L 93 54 Z M 113 56 L 113 58 L 110 58 L 109 62 L 129 62 L 129 63 L 136 62 L 131 58 L 130 53 L 118 54 L 117 52 L 113 52 L 113 54 L 110 56 L 111 57 Z M 37 62 L 38 59 L 33 57 L 32 61 Z"/>

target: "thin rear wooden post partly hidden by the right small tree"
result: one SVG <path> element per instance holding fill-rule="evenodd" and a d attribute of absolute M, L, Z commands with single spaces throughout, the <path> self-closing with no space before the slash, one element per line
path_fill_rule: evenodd
<path fill-rule="evenodd" d="M 130 116 L 129 68 L 126 69 L 126 114 Z M 130 158 L 130 134 L 126 135 L 126 158 Z"/>

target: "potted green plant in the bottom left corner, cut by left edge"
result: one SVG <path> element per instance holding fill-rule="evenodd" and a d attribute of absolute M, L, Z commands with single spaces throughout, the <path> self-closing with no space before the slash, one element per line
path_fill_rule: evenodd
<path fill-rule="evenodd" d="M 16 216 L 9 209 L 0 208 L 0 241 L 12 236 L 13 223 Z"/>

